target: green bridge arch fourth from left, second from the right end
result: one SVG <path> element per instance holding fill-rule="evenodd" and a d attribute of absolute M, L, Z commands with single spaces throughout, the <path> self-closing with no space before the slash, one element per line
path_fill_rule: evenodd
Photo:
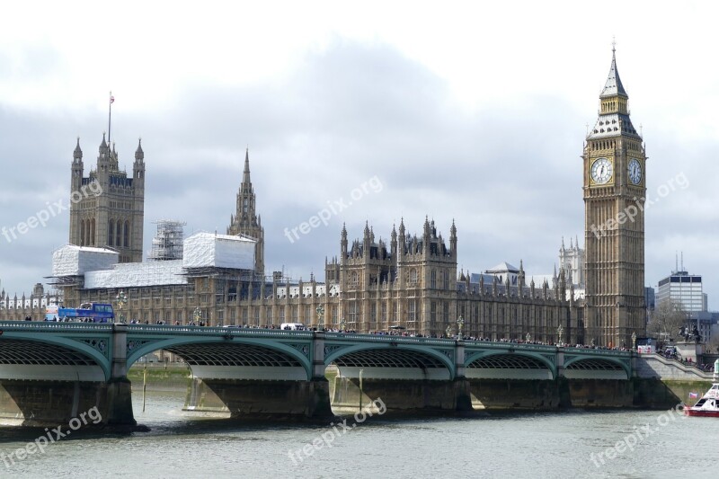
<path fill-rule="evenodd" d="M 478 351 L 465 360 L 468 378 L 554 379 L 556 375 L 555 363 L 532 351 Z"/>

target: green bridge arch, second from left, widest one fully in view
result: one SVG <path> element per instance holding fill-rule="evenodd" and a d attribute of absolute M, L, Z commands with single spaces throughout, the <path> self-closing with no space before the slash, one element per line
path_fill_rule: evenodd
<path fill-rule="evenodd" d="M 138 345 L 135 346 L 135 343 Z M 277 378 L 309 380 L 312 378 L 312 365 L 309 357 L 309 346 L 306 350 L 297 350 L 288 344 L 271 339 L 233 337 L 230 339 L 217 336 L 180 336 L 162 339 L 153 342 L 142 340 L 129 340 L 128 342 L 128 368 L 146 354 L 155 350 L 167 350 L 180 356 L 198 377 L 208 377 L 217 374 L 217 368 L 244 367 L 237 369 L 236 373 L 245 373 L 245 376 L 254 378 Z M 261 369 L 264 368 L 264 369 Z M 281 377 L 286 368 L 289 374 Z M 292 370 L 290 371 L 289 368 Z M 301 368 L 301 374 L 298 370 Z M 212 371 L 212 372 L 211 372 Z M 263 374 L 260 374 L 262 371 Z M 226 369 L 225 376 L 229 369 Z M 271 372 L 268 377 L 264 373 Z M 250 377 L 226 377 L 250 378 Z"/>

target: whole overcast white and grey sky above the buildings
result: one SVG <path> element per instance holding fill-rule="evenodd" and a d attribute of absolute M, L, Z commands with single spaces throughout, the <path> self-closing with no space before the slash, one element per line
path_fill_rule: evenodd
<path fill-rule="evenodd" d="M 4 8 L 0 226 L 68 204 L 75 137 L 86 176 L 111 90 L 120 168 L 131 172 L 143 139 L 146 253 L 161 218 L 186 221 L 186 235 L 225 233 L 249 146 L 268 272 L 323 279 L 343 222 L 351 239 L 366 221 L 388 238 L 402 217 L 420 234 L 428 215 L 445 238 L 456 221 L 460 269 L 521 259 L 530 276 L 551 273 L 563 236 L 584 244 L 580 155 L 616 37 L 659 199 L 646 212 L 645 283 L 684 252 L 710 307 L 719 300 L 716 4 L 181 5 Z M 285 228 L 328 202 L 345 206 L 290 243 Z M 0 236 L 2 288 L 45 281 L 68 220 Z"/>

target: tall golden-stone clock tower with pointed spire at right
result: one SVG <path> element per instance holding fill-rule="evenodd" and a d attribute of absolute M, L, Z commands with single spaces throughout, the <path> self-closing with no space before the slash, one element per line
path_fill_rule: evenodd
<path fill-rule="evenodd" d="M 643 335 L 646 155 L 632 126 L 617 58 L 584 145 L 585 342 L 632 347 Z"/>

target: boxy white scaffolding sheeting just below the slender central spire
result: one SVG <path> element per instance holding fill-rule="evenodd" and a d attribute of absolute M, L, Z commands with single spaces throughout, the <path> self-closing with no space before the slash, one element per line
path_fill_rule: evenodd
<path fill-rule="evenodd" d="M 185 268 L 230 268 L 254 270 L 254 244 L 240 236 L 198 233 L 185 239 L 182 266 Z"/>

